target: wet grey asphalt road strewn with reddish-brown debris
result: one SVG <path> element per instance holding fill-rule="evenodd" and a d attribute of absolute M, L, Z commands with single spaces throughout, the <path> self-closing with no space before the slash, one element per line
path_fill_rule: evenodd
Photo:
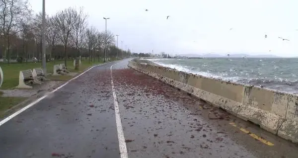
<path fill-rule="evenodd" d="M 114 64 L 91 69 L 0 126 L 0 158 L 120 158 Z M 296 145 L 127 64 L 112 72 L 129 158 L 297 158 Z"/>

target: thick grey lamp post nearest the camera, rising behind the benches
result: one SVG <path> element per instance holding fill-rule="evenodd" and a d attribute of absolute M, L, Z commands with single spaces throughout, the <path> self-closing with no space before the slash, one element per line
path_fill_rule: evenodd
<path fill-rule="evenodd" d="M 46 8 L 45 8 L 45 0 L 42 0 L 42 32 L 41 32 L 41 37 L 42 37 L 42 68 L 44 71 L 44 74 L 47 73 L 47 68 L 46 68 Z"/>

